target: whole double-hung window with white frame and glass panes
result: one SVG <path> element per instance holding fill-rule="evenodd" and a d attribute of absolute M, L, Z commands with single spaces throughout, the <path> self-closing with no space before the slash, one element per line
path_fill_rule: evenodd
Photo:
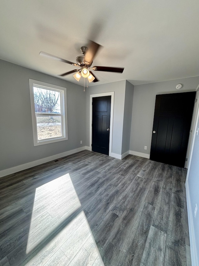
<path fill-rule="evenodd" d="M 66 88 L 29 79 L 34 146 L 67 139 Z"/>

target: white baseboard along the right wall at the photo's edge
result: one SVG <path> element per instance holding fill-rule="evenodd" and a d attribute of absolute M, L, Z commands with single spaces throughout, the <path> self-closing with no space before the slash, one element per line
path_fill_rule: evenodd
<path fill-rule="evenodd" d="M 190 249 L 191 249 L 191 258 L 192 258 L 192 266 L 198 266 L 198 259 L 197 259 L 197 250 L 196 250 L 196 241 L 194 235 L 194 227 L 193 227 L 193 215 L 192 215 L 192 208 L 191 208 L 191 201 L 190 201 L 190 194 L 189 194 L 189 185 L 186 181 L 186 197 L 187 197 L 187 214 L 188 214 L 188 225 L 189 225 L 189 239 L 190 239 Z"/>

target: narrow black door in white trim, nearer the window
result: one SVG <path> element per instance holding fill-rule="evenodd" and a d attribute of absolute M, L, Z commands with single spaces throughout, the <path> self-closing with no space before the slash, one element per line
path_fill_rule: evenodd
<path fill-rule="evenodd" d="M 111 96 L 93 98 L 92 151 L 109 155 Z"/>

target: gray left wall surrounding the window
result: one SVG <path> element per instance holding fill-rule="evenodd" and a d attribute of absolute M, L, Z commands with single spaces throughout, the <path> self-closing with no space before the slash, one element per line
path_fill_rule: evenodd
<path fill-rule="evenodd" d="M 81 86 L 2 60 L 0 69 L 0 170 L 85 146 Z M 34 146 L 29 78 L 67 88 L 68 140 Z"/>

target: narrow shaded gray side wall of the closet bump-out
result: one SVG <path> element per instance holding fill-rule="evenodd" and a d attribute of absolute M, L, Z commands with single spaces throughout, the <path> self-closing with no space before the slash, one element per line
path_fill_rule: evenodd
<path fill-rule="evenodd" d="M 128 152 L 130 149 L 133 90 L 134 86 L 130 82 L 126 81 L 122 135 L 122 154 Z"/>

